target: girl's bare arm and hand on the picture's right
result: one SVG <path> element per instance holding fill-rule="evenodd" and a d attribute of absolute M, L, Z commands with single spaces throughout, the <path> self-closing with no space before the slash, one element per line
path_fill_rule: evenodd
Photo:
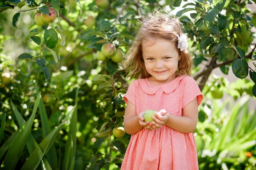
<path fill-rule="evenodd" d="M 153 128 L 158 129 L 165 124 L 179 132 L 194 132 L 198 122 L 197 97 L 183 108 L 183 116 L 166 114 L 165 110 L 160 110 L 159 113 L 160 114 L 155 114 L 156 117 L 153 117 Z"/>

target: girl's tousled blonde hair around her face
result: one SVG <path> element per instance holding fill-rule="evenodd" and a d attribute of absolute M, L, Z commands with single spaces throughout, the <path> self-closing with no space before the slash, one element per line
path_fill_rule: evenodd
<path fill-rule="evenodd" d="M 177 35 L 182 33 L 183 25 L 176 17 L 170 17 L 167 14 L 155 11 L 148 13 L 145 18 L 139 21 L 140 29 L 131 43 L 126 55 L 122 68 L 126 70 L 127 77 L 130 79 L 148 78 L 150 75 L 146 71 L 143 56 L 142 56 L 142 42 L 149 37 L 162 38 L 170 42 L 174 42 L 177 47 Z M 176 77 L 180 75 L 191 75 L 191 68 L 193 65 L 191 54 L 188 50 L 180 51 L 180 55 Z"/>

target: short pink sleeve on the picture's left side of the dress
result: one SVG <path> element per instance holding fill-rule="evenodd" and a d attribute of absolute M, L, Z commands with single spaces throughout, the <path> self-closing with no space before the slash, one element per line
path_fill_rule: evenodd
<path fill-rule="evenodd" d="M 128 100 L 136 105 L 136 90 L 138 87 L 138 82 L 136 80 L 132 81 L 124 95 L 124 102 L 127 104 Z"/>

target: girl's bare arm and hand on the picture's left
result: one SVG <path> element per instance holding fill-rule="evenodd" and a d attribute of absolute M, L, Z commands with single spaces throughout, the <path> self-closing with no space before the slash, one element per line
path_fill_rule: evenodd
<path fill-rule="evenodd" d="M 144 121 L 143 112 L 136 115 L 136 106 L 128 100 L 124 113 L 124 129 L 126 133 L 132 135 L 142 128 L 153 130 L 153 125 L 149 121 Z"/>

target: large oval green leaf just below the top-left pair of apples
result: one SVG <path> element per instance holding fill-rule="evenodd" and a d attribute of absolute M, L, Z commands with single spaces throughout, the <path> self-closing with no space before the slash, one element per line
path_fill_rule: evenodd
<path fill-rule="evenodd" d="M 56 47 L 58 44 L 58 34 L 54 29 L 46 29 L 44 33 L 45 44 L 49 49 Z"/>

